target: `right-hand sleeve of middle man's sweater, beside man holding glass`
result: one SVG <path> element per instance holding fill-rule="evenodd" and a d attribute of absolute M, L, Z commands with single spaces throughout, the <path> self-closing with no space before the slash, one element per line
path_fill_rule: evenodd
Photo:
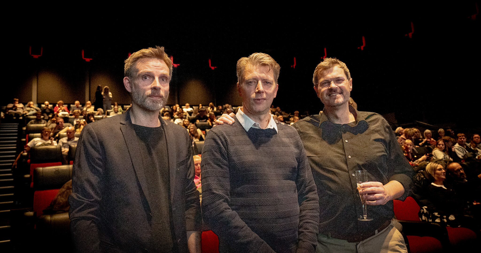
<path fill-rule="evenodd" d="M 299 139 L 299 143 L 301 140 Z M 319 227 L 319 196 L 304 147 L 298 161 L 297 196 L 299 201 L 299 237 L 297 253 L 315 252 Z"/>

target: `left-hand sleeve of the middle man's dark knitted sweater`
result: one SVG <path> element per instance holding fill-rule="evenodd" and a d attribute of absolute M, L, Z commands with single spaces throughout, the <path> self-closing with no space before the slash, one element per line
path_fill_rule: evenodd
<path fill-rule="evenodd" d="M 274 252 L 230 206 L 230 177 L 226 140 L 209 131 L 201 161 L 203 219 L 214 233 L 239 252 Z"/>

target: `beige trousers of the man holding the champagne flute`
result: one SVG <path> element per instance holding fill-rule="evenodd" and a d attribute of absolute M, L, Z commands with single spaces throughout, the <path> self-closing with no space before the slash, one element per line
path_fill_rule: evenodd
<path fill-rule="evenodd" d="M 407 253 L 403 235 L 397 230 L 393 222 L 384 230 L 360 242 L 348 242 L 317 235 L 316 253 Z"/>

